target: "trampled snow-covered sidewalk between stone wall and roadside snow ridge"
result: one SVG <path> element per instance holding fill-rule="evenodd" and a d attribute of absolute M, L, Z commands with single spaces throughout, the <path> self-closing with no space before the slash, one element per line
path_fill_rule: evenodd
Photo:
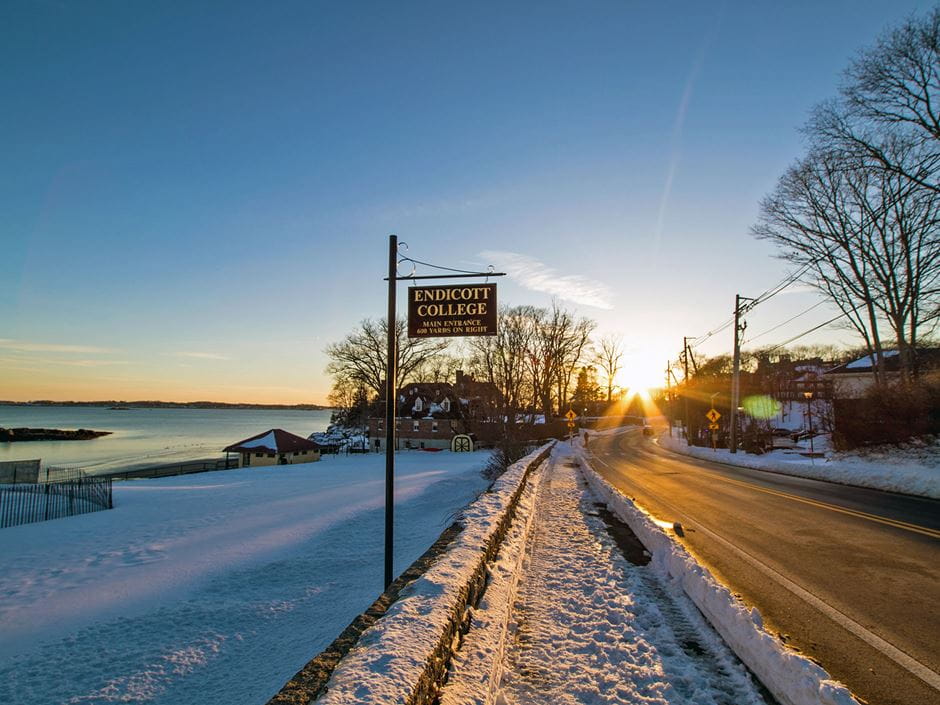
<path fill-rule="evenodd" d="M 681 588 L 625 559 L 570 446 L 535 482 L 442 703 L 765 702 Z"/>

